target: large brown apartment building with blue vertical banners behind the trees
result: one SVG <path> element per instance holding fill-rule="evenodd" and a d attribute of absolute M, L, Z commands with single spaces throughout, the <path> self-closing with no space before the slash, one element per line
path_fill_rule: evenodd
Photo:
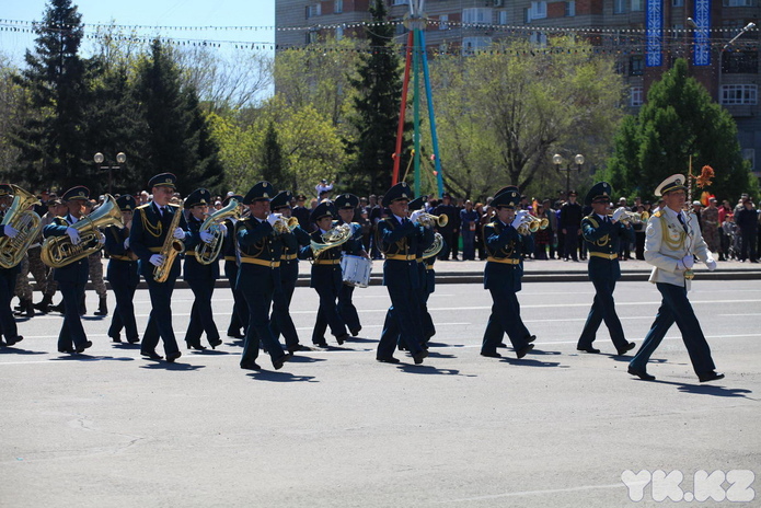
<path fill-rule="evenodd" d="M 276 0 L 279 50 L 333 35 L 361 36 L 372 0 Z M 404 42 L 410 0 L 384 0 Z M 426 45 L 468 55 L 493 42 L 528 38 L 542 45 L 552 34 L 584 34 L 618 56 L 632 113 L 650 83 L 687 58 L 692 76 L 735 117 L 742 154 L 761 178 L 759 20 L 761 0 L 427 0 Z M 743 31 L 749 23 L 757 26 Z M 653 30 L 661 26 L 664 30 Z M 727 46 L 738 34 L 741 35 Z M 619 51 L 616 51 L 619 49 Z M 720 67 L 719 67 L 720 61 Z"/>

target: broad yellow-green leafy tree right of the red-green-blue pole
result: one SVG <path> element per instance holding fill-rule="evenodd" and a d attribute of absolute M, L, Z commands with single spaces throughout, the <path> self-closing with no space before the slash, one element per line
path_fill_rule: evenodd
<path fill-rule="evenodd" d="M 433 60 L 447 187 L 473 198 L 507 184 L 552 195 L 565 187 L 553 153 L 584 153 L 592 164 L 607 157 L 623 82 L 611 58 L 590 53 L 587 43 L 557 37 L 544 48 L 507 42 Z"/>

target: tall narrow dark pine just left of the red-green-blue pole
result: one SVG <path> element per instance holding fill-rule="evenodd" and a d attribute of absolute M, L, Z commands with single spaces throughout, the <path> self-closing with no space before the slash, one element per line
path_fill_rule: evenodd
<path fill-rule="evenodd" d="M 401 61 L 393 47 L 394 27 L 387 23 L 381 0 L 370 7 L 373 23 L 367 28 L 370 48 L 349 80 L 357 90 L 349 124 L 356 129 L 347 152 L 354 163 L 343 175 L 346 187 L 355 192 L 384 192 L 391 185 L 393 153 L 396 150 L 399 109 L 402 102 Z M 410 126 L 406 126 L 408 130 Z M 405 143 L 406 152 L 410 142 Z"/>

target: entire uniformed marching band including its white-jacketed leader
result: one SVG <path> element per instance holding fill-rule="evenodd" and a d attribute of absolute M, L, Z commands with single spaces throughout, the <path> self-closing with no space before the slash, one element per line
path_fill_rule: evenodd
<path fill-rule="evenodd" d="M 724 377 L 715 371 L 708 345 L 687 299 L 694 258 L 711 269 L 715 262 L 695 221 L 689 212 L 681 211 L 683 181 L 682 175 L 673 175 L 658 187 L 656 195 L 662 194 L 667 206 L 647 226 L 645 257 L 654 266 L 650 281 L 664 301 L 645 343 L 629 366 L 632 376 L 644 380 L 655 379 L 645 366 L 674 322 L 682 331 L 700 381 Z M 91 213 L 84 211 L 90 190 L 76 186 L 61 196 L 65 213 L 61 203 L 54 201 L 45 218 L 41 218 L 33 211 L 37 204 L 34 196 L 16 185 L 0 184 L 0 346 L 13 346 L 23 339 L 11 299 L 20 265 L 27 250 L 35 247 L 39 247 L 42 262 L 53 268 L 53 280 L 42 288 L 44 299 L 37 305 L 51 304 L 53 281 L 64 298 L 59 353 L 81 354 L 92 346 L 80 316 L 89 258 L 96 254 L 100 259 L 101 249 L 108 257 L 106 278 L 116 297 L 107 335 L 120 343 L 124 332 L 128 343 L 141 343 L 140 354 L 151 360 L 164 358 L 155 350 L 159 339 L 163 340 L 165 361 L 174 362 L 182 356 L 171 309 L 181 269 L 194 295 L 185 333 L 187 347 L 205 350 L 204 335 L 211 348 L 222 345 L 211 307 L 220 262 L 234 302 L 227 335 L 243 339 L 241 369 L 261 369 L 256 362 L 260 348 L 269 355 L 276 370 L 295 354 L 310 350 L 300 343 L 289 311 L 300 259 L 311 263 L 310 287 L 320 301 L 313 345 L 328 347 L 328 328 L 339 346 L 360 333 L 362 326 L 353 295 L 356 287 L 369 285 L 371 259 L 362 242 L 362 228 L 354 221 L 359 206 L 357 196 L 343 194 L 335 201 L 320 203 L 310 217 L 316 229 L 309 233 L 291 217 L 293 195 L 288 190 L 277 193 L 268 182 L 257 183 L 245 196 L 228 196 L 216 209 L 211 208 L 211 194 L 205 188 L 191 193 L 182 207 L 172 204 L 176 189 L 176 176 L 172 173 L 155 175 L 148 186 L 153 194 L 150 203 L 138 206 L 132 196 L 114 199 L 106 195 L 105 203 Z M 623 209 L 608 213 L 611 194 L 610 185 L 600 182 L 586 198 L 592 212 L 583 219 L 581 229 L 588 243 L 589 278 L 596 297 L 577 349 L 599 353 L 592 344 L 604 321 L 616 353 L 625 355 L 635 344 L 624 338 L 613 289 L 620 278 L 618 243 L 620 239 L 631 240 L 629 221 L 634 218 Z M 532 250 L 532 233 L 546 224 L 521 209 L 520 198 L 515 186 L 499 189 L 492 201 L 494 218 L 483 226 L 488 254 L 483 280 L 493 300 L 481 346 L 484 357 L 501 357 L 497 348 L 505 347 L 505 335 L 519 359 L 534 348 L 537 336 L 521 319 L 517 293 L 521 290 L 523 254 Z M 428 357 L 428 342 L 436 334 L 427 301 L 435 289 L 434 263 L 446 247 L 445 239 L 435 229 L 446 226 L 448 218 L 426 213 L 425 198 L 415 198 L 404 182 L 392 186 L 383 201 L 388 215 L 378 223 L 373 244 L 384 256 L 383 286 L 391 305 L 376 359 L 399 363 L 401 360 L 394 356 L 399 349 L 408 351 L 414 363 L 419 365 Z M 142 339 L 132 304 L 140 276 L 148 285 L 151 301 Z M 99 311 L 100 315 L 107 314 L 103 299 Z"/>

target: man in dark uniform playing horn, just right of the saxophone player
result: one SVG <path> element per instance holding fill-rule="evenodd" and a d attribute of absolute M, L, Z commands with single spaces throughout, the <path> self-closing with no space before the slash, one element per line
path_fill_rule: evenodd
<path fill-rule="evenodd" d="M 191 290 L 193 290 L 195 296 L 191 309 L 191 322 L 187 324 L 187 332 L 185 332 L 185 343 L 188 349 L 200 351 L 206 349 L 206 346 L 200 344 L 203 333 L 206 333 L 206 339 L 212 349 L 222 344 L 222 340 L 219 338 L 217 323 L 214 321 L 214 311 L 211 310 L 214 287 L 219 278 L 219 259 L 217 258 L 205 265 L 198 261 L 195 250 L 197 245 L 201 243 L 208 245 L 214 240 L 214 233 L 200 230 L 209 213 L 210 204 L 211 193 L 205 188 L 197 188 L 187 196 L 183 205 L 189 211 L 187 218 L 189 234 L 185 240 L 186 251 L 183 278 L 191 286 Z M 221 234 L 227 232 L 224 224 L 218 224 L 218 227 Z"/>

